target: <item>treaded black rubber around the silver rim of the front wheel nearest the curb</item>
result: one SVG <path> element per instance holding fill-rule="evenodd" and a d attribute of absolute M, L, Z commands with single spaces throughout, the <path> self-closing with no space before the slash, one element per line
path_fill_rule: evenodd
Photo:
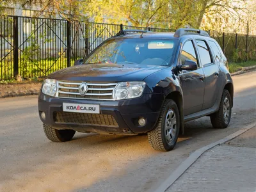
<path fill-rule="evenodd" d="M 173 111 L 175 114 L 176 125 L 173 125 L 175 127 L 175 129 L 173 128 L 173 130 L 175 130 L 175 136 L 172 137 L 171 141 L 168 141 L 168 138 L 166 138 L 166 132 L 168 131 L 165 130 L 165 125 L 167 123 L 166 119 L 168 118 L 167 114 L 170 111 Z M 177 104 L 173 100 L 165 100 L 156 127 L 152 131 L 148 132 L 148 142 L 155 150 L 170 151 L 177 143 L 179 130 L 180 116 Z"/>

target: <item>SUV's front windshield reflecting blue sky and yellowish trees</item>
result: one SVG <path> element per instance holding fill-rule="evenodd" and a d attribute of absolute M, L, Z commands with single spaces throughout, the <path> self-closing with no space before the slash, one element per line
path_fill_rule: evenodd
<path fill-rule="evenodd" d="M 147 38 L 111 39 L 101 45 L 84 63 L 169 65 L 176 40 Z"/>

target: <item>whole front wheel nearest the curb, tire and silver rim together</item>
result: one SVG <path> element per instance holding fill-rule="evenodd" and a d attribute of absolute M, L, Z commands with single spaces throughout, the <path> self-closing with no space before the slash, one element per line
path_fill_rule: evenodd
<path fill-rule="evenodd" d="M 173 100 L 165 100 L 156 127 L 148 132 L 148 142 L 155 150 L 170 151 L 177 143 L 179 130 L 180 116 L 177 104 Z"/>

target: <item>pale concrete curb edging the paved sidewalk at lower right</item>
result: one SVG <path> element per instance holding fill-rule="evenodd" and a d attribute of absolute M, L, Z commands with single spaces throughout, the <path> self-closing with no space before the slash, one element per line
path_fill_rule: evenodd
<path fill-rule="evenodd" d="M 198 150 L 196 150 L 195 152 L 193 152 L 193 154 L 191 154 L 185 161 L 183 161 L 179 167 L 166 179 L 164 180 L 164 182 L 156 189 L 157 192 L 161 192 L 161 191 L 166 191 L 166 189 L 170 188 L 170 186 L 172 186 L 172 184 L 179 179 L 179 177 L 186 172 L 186 170 L 188 170 L 188 168 L 195 163 L 195 161 L 202 156 L 202 154 L 204 154 L 204 152 L 206 152 L 207 150 L 215 147 L 216 145 L 221 145 L 223 143 L 226 143 L 229 140 L 232 140 L 234 138 L 236 138 L 237 136 L 243 134 L 244 132 L 252 129 L 253 127 L 255 127 L 256 122 L 254 122 L 253 124 L 250 124 L 246 127 L 244 127 L 243 129 L 240 129 L 237 132 L 234 132 L 230 135 L 228 135 L 227 137 L 216 141 L 214 143 L 211 143 L 209 145 L 206 145 L 205 147 L 199 148 Z"/>

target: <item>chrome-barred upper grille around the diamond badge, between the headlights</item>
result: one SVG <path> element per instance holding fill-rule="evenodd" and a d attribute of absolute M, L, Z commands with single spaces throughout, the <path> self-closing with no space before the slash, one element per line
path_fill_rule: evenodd
<path fill-rule="evenodd" d="M 113 100 L 113 90 L 117 83 L 86 82 L 88 90 L 85 95 L 79 93 L 82 81 L 58 81 L 56 97 L 74 99 Z"/>

